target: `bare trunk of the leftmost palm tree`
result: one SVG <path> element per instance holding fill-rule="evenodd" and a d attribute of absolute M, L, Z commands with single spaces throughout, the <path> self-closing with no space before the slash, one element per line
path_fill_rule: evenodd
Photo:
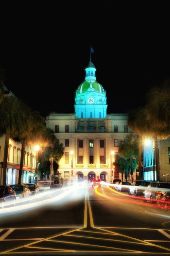
<path fill-rule="evenodd" d="M 5 146 L 3 155 L 3 185 L 7 184 L 7 161 L 8 161 L 8 148 L 9 148 L 10 128 L 6 129 Z"/>

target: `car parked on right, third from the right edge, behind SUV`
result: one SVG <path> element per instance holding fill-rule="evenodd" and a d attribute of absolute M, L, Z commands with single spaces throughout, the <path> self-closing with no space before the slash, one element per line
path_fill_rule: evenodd
<path fill-rule="evenodd" d="M 143 192 L 145 190 L 144 187 L 147 187 L 150 184 L 149 181 L 143 181 L 143 180 L 139 180 L 139 181 L 134 181 L 132 183 L 132 185 L 129 187 L 128 193 L 129 195 L 143 195 Z M 138 186 L 139 188 L 136 188 L 136 186 Z"/>

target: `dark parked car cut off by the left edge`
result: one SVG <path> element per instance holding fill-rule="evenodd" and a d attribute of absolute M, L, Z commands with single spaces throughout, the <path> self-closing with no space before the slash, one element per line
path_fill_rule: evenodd
<path fill-rule="evenodd" d="M 5 202 L 13 201 L 15 204 L 16 192 L 7 185 L 0 186 L 0 206 L 3 208 Z"/>

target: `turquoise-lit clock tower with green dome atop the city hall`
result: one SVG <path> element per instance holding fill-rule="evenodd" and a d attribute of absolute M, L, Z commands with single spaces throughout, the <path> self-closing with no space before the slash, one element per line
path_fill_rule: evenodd
<path fill-rule="evenodd" d="M 105 118 L 107 115 L 106 92 L 96 81 L 96 68 L 88 63 L 85 82 L 79 85 L 75 97 L 75 116 L 78 118 Z"/>

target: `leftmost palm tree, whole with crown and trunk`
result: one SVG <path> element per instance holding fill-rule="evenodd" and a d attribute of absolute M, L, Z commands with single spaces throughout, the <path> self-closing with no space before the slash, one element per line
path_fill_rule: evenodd
<path fill-rule="evenodd" d="M 24 112 L 21 101 L 14 97 L 4 97 L 0 105 L 0 132 L 6 134 L 3 157 L 3 184 L 7 180 L 7 159 L 9 139 L 17 136 L 24 124 Z"/>

